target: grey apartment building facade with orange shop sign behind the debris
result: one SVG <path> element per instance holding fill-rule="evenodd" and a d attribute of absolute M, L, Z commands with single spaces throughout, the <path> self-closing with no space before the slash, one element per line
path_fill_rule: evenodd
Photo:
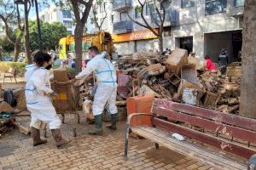
<path fill-rule="evenodd" d="M 164 5 L 164 48 L 186 48 L 198 57 L 209 55 L 214 61 L 218 61 L 221 48 L 226 48 L 232 61 L 239 59 L 244 0 L 166 0 Z M 114 34 L 119 54 L 158 48 L 154 34 L 133 23 L 125 13 L 128 8 L 131 17 L 143 23 L 137 0 L 115 0 L 111 6 L 105 30 Z M 147 6 L 143 13 L 152 23 Z M 102 13 L 98 14 L 100 19 Z"/>

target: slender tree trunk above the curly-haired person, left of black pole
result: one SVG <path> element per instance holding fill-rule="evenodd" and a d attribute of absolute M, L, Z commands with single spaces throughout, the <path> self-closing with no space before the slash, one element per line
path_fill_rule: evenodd
<path fill-rule="evenodd" d="M 28 8 L 27 2 L 25 1 L 24 4 L 25 10 L 25 51 L 26 51 L 26 59 L 28 64 L 32 64 L 31 58 L 31 49 L 30 49 L 30 42 L 29 42 L 29 26 L 28 26 Z"/>

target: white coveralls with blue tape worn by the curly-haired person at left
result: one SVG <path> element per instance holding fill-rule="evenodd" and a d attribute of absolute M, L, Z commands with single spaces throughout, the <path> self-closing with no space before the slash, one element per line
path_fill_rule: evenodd
<path fill-rule="evenodd" d="M 53 91 L 49 83 L 49 71 L 36 65 L 26 65 L 26 106 L 31 112 L 30 127 L 39 129 L 40 122 L 46 122 L 49 129 L 61 127 L 61 120 L 57 116 L 50 97 Z"/>

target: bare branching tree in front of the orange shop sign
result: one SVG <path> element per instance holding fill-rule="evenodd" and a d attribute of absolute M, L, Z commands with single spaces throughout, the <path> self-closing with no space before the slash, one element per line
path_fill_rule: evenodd
<path fill-rule="evenodd" d="M 137 0 L 139 3 L 139 6 L 137 6 L 136 10 L 140 13 L 143 23 L 138 22 L 137 20 L 134 20 L 133 17 L 129 14 L 128 10 L 126 11 L 126 14 L 128 15 L 129 19 L 136 23 L 139 26 L 143 26 L 144 28 L 147 28 L 149 31 L 152 31 L 154 36 L 158 38 L 158 46 L 160 50 L 160 54 L 163 53 L 163 32 L 164 32 L 164 22 L 166 20 L 166 8 L 163 5 L 165 0 Z M 125 5 L 127 6 L 126 0 Z M 149 14 L 151 19 L 154 22 L 154 25 L 159 28 L 159 31 L 156 31 L 154 29 L 154 25 L 149 24 L 149 21 L 145 18 L 143 11 L 146 9 L 146 6 L 149 8 Z M 162 10 L 160 10 L 160 8 Z M 162 12 L 161 12 L 162 11 Z"/>

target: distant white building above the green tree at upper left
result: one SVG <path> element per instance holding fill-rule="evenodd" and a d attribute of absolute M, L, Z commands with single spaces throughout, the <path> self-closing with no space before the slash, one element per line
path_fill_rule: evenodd
<path fill-rule="evenodd" d="M 39 18 L 49 23 L 61 22 L 63 26 L 67 27 L 69 34 L 74 34 L 75 24 L 72 13 L 69 10 L 63 10 L 55 4 L 52 4 L 49 8 L 44 8 L 44 10 L 39 12 Z M 35 17 L 33 19 L 36 20 Z"/>

